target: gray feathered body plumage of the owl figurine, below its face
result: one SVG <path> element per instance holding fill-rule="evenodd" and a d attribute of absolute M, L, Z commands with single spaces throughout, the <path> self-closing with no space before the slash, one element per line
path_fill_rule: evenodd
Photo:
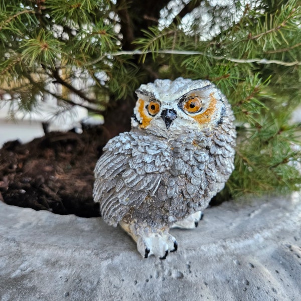
<path fill-rule="evenodd" d="M 206 208 L 223 189 L 234 169 L 235 130 L 230 106 L 220 97 L 223 120 L 210 128 L 171 131 L 166 138 L 133 127 L 109 140 L 95 167 L 93 190 L 109 225 L 124 216 L 171 225 Z"/>

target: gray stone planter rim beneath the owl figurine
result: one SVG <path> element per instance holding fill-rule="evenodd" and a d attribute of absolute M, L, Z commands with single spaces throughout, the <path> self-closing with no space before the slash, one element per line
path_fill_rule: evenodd
<path fill-rule="evenodd" d="M 301 300 L 301 198 L 205 211 L 179 249 L 144 259 L 101 218 L 0 202 L 0 300 Z"/>

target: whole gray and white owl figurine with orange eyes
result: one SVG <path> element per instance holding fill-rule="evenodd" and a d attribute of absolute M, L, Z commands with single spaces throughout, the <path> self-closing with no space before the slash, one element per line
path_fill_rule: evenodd
<path fill-rule="evenodd" d="M 142 256 L 165 259 L 178 248 L 169 229 L 195 228 L 234 169 L 234 116 L 208 80 L 157 79 L 136 94 L 131 130 L 110 139 L 96 164 L 93 197 Z"/>

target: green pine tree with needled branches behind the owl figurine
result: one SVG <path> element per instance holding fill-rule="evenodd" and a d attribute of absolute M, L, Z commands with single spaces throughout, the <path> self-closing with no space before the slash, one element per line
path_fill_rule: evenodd
<path fill-rule="evenodd" d="M 301 184 L 300 124 L 289 122 L 301 96 L 300 14 L 298 0 L 3 1 L 0 92 L 21 110 L 52 95 L 102 114 L 156 78 L 209 79 L 238 130 L 223 196 L 288 193 Z"/>

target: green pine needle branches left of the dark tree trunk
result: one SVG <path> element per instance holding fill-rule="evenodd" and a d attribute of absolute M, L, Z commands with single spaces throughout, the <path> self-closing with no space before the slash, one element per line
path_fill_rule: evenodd
<path fill-rule="evenodd" d="M 93 61 L 120 49 L 118 33 L 114 31 L 116 18 L 110 13 L 110 5 L 110 1 L 75 0 L 2 4 L 0 86 L 4 92 L 13 95 L 23 83 L 37 84 L 36 93 L 27 93 L 26 98 L 19 99 L 23 109 L 31 110 L 30 102 L 35 103 L 41 93 L 44 98 L 53 95 L 47 84 L 57 82 L 68 89 L 70 98 L 65 99 L 60 93 L 53 96 L 72 104 L 79 92 L 72 85 L 74 78 L 85 80 L 89 74 L 98 90 L 108 95 L 108 88 L 101 84 L 97 74 L 111 71 L 112 59 L 98 60 L 96 64 Z M 85 95 L 79 96 L 88 100 L 83 106 L 97 111 L 95 105 L 89 104 L 98 102 L 88 96 L 93 90 L 94 87 L 85 87 Z"/>

